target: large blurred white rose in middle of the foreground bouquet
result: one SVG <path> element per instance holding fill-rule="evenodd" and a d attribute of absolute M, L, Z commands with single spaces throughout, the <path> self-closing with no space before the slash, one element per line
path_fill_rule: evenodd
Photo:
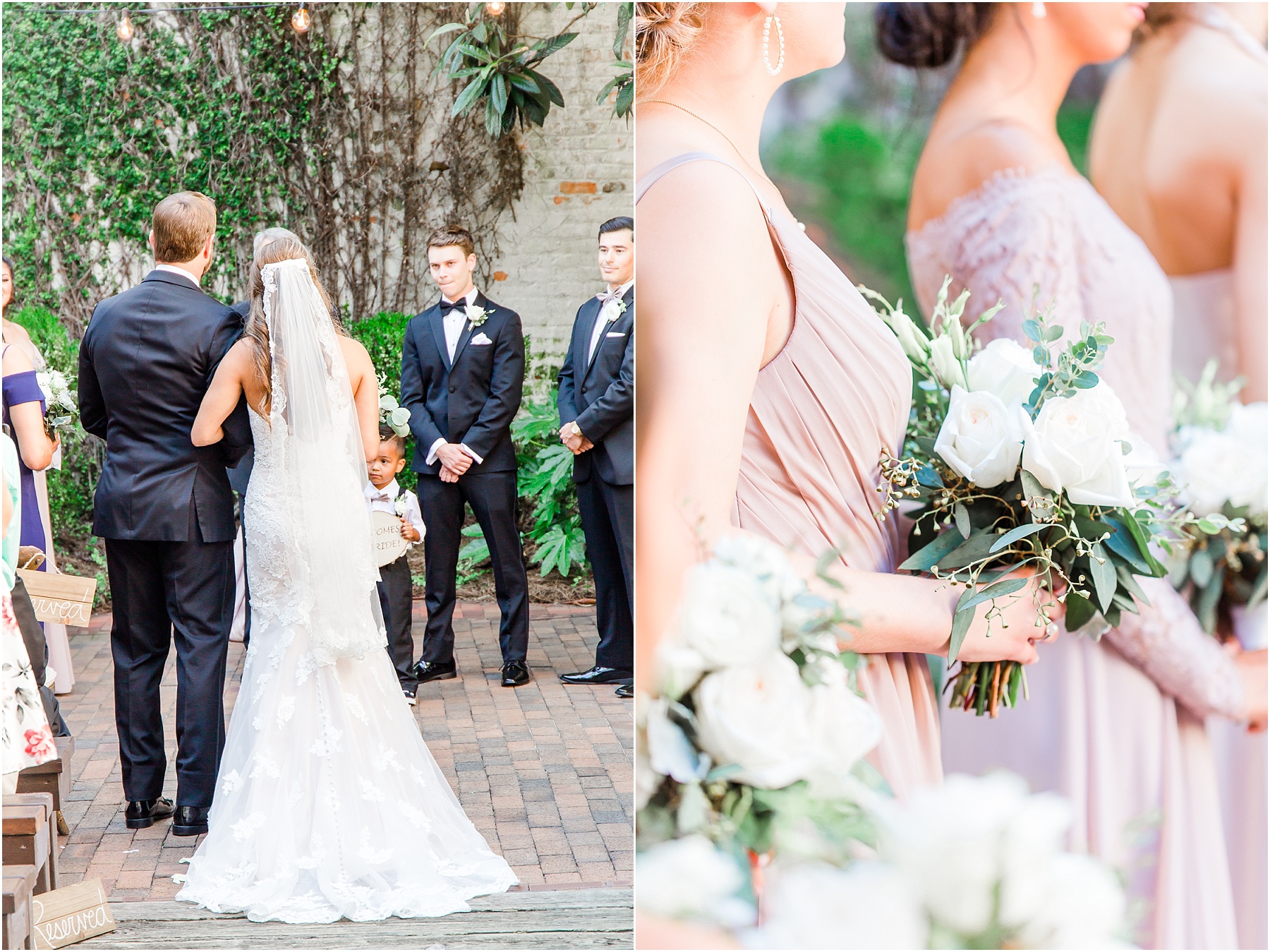
<path fill-rule="evenodd" d="M 709 674 L 693 699 L 697 741 L 716 764 L 737 764 L 738 782 L 777 789 L 819 763 L 812 689 L 785 655 Z"/>

